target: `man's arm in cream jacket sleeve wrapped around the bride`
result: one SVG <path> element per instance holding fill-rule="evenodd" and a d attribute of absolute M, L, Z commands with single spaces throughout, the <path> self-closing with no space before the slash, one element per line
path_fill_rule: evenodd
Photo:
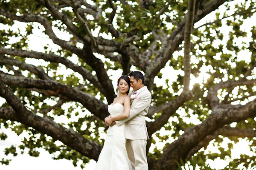
<path fill-rule="evenodd" d="M 130 115 L 126 119 L 116 121 L 118 126 L 124 124 L 128 120 L 134 118 L 138 114 L 140 114 L 145 108 L 147 108 L 151 103 L 151 94 L 145 93 L 140 96 L 138 102 L 131 108 Z"/>

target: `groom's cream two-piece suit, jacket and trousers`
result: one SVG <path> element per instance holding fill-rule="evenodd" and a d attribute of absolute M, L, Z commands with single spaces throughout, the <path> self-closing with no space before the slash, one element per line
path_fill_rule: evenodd
<path fill-rule="evenodd" d="M 126 149 L 133 170 L 148 170 L 146 140 L 149 137 L 145 116 L 148 114 L 148 108 L 151 103 L 151 93 L 146 86 L 136 92 L 136 97 L 131 99 L 133 101 L 129 117 L 116 121 L 116 124 L 120 126 L 125 123 Z M 134 92 L 129 96 L 133 94 Z"/>

